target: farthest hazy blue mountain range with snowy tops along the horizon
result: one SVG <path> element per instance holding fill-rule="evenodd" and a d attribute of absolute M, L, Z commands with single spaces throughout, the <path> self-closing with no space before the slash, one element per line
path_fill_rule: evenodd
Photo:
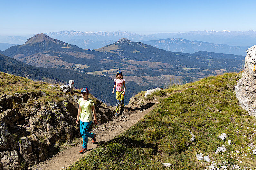
<path fill-rule="evenodd" d="M 247 47 L 256 44 L 256 31 L 188 31 L 184 33 L 156 33 L 150 35 L 140 35 L 136 33 L 131 33 L 128 31 L 57 31 L 45 33 L 46 35 L 59 39 L 64 42 L 69 42 L 71 39 L 84 39 L 92 41 L 118 41 L 120 38 L 128 38 L 132 41 L 148 41 L 148 40 L 158 40 L 166 38 L 183 38 L 190 41 L 203 41 L 214 44 L 227 44 L 230 46 L 241 46 Z M 27 35 L 28 36 L 28 35 Z M 30 37 L 30 36 L 29 36 Z M 26 41 L 24 36 L 0 36 L 0 43 L 10 43 L 10 44 L 24 44 Z M 81 47 L 81 46 L 80 46 Z"/>

